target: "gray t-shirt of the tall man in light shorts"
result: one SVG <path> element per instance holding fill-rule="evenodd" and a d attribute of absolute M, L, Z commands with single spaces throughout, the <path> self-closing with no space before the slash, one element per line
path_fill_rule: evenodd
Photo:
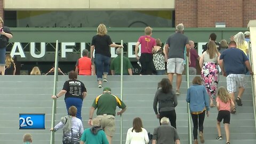
<path fill-rule="evenodd" d="M 189 44 L 187 36 L 181 33 L 172 34 L 167 39 L 166 44 L 169 45 L 168 59 L 184 59 L 185 46 L 186 44 Z"/>

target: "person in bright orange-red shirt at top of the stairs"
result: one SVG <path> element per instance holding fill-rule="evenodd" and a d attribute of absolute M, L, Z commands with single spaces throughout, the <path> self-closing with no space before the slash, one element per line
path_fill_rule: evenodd
<path fill-rule="evenodd" d="M 95 75 L 95 69 L 93 62 L 88 58 L 88 50 L 82 51 L 82 58 L 79 58 L 76 62 L 76 73 L 78 75 Z"/>

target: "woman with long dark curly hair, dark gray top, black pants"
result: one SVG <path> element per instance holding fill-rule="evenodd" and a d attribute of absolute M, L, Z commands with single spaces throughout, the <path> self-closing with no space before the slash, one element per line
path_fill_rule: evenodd
<path fill-rule="evenodd" d="M 161 89 L 156 91 L 153 103 L 156 117 L 159 118 L 159 120 L 161 120 L 162 117 L 169 118 L 171 125 L 176 129 L 175 107 L 178 105 L 178 101 L 176 94 L 172 90 L 172 84 L 168 78 L 163 78 L 159 83 L 159 87 L 161 87 Z M 157 110 L 157 103 L 159 114 Z"/>

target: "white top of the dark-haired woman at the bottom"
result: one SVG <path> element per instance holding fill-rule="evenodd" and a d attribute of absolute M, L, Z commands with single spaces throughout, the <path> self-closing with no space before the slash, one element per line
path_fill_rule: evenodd
<path fill-rule="evenodd" d="M 132 127 L 127 131 L 125 144 L 145 144 L 148 143 L 148 132 L 142 128 L 142 132 L 135 132 Z"/>

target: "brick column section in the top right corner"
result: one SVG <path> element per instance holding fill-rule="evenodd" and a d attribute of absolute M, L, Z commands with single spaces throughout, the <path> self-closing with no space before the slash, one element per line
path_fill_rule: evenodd
<path fill-rule="evenodd" d="M 243 27 L 247 27 L 250 20 L 256 20 L 256 1 L 243 1 Z"/>

